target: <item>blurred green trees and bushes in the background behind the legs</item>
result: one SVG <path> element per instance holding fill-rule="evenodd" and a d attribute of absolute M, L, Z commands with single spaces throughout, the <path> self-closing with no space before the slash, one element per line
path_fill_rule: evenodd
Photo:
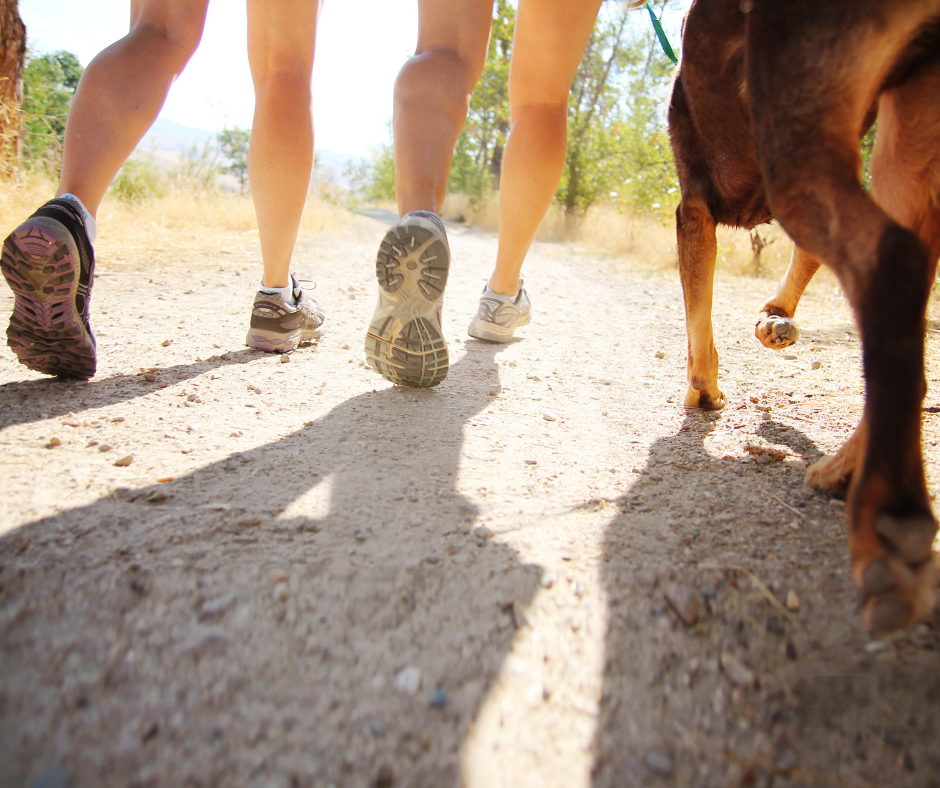
<path fill-rule="evenodd" d="M 680 12 L 687 3 L 653 0 L 652 5 L 661 16 L 664 10 Z M 457 141 L 444 209 L 447 218 L 491 230 L 497 229 L 511 122 L 515 17 L 511 0 L 495 1 L 487 62 Z M 673 44 L 678 50 L 679 42 Z M 643 255 L 656 267 L 675 264 L 673 217 L 680 195 L 666 128 L 673 73 L 648 14 L 627 11 L 616 0 L 603 3 L 570 92 L 564 173 L 540 239 L 580 239 L 595 251 Z M 27 53 L 18 161 L 8 168 L 14 179 L 47 184 L 57 179 L 65 121 L 81 74 L 81 64 L 69 52 Z M 250 136 L 250 129 L 225 128 L 211 143 L 183 152 L 171 164 L 138 152 L 118 173 L 109 199 L 139 207 L 180 195 L 203 201 L 224 197 L 243 199 L 247 211 Z M 350 163 L 342 185 L 335 172 L 318 170 L 311 187 L 311 202 L 318 207 L 308 213 L 323 205 L 354 208 L 364 201 L 391 207 L 391 124 L 388 137 L 370 160 Z M 872 140 L 869 134 L 862 145 L 866 185 Z M 719 237 L 719 267 L 736 273 L 777 275 L 788 255 L 789 243 L 775 227 L 750 235 L 722 230 Z"/>

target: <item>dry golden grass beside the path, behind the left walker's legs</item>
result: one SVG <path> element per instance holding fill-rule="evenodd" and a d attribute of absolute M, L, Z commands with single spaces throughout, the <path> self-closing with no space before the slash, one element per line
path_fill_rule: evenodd
<path fill-rule="evenodd" d="M 0 237 L 54 193 L 54 185 L 38 177 L 0 183 Z M 335 231 L 349 217 L 345 209 L 312 193 L 301 235 Z M 164 197 L 137 203 L 105 197 L 98 210 L 98 228 L 97 257 L 114 267 L 236 251 L 260 260 L 258 223 L 249 195 L 170 190 Z"/>

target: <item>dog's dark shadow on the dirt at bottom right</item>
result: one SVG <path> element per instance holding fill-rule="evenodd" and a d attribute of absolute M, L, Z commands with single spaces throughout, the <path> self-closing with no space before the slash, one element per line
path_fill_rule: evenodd
<path fill-rule="evenodd" d="M 732 422 L 690 413 L 653 444 L 608 528 L 594 785 L 929 784 L 936 628 L 865 650 L 841 506 L 785 463 L 723 457 Z"/>

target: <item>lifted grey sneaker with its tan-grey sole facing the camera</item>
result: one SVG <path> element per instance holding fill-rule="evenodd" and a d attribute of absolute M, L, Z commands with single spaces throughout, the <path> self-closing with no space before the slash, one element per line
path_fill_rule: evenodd
<path fill-rule="evenodd" d="M 441 304 L 450 247 L 437 214 L 414 211 L 379 246 L 375 275 L 379 302 L 366 334 L 366 360 L 386 380 L 436 386 L 447 377 Z"/>

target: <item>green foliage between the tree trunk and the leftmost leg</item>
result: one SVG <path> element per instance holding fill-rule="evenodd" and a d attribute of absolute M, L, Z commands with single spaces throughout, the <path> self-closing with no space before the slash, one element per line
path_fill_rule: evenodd
<path fill-rule="evenodd" d="M 82 76 L 71 52 L 29 52 L 23 70 L 22 151 L 25 165 L 58 175 L 65 121 Z"/>

